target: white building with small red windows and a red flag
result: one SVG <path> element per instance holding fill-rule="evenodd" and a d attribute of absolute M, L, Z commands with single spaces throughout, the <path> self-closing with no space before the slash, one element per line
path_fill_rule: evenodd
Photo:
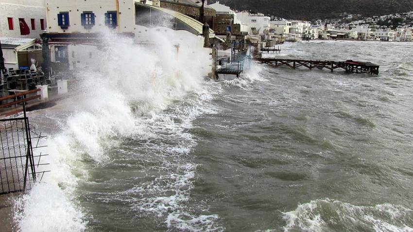
<path fill-rule="evenodd" d="M 0 36 L 40 38 L 46 29 L 44 0 L 1 0 Z"/>

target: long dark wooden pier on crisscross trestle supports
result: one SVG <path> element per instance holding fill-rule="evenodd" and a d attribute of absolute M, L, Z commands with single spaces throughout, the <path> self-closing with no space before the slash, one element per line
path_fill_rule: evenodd
<path fill-rule="evenodd" d="M 288 66 L 290 68 L 296 69 L 298 67 L 306 67 L 308 69 L 328 69 L 334 71 L 336 69 L 343 69 L 346 72 L 353 73 L 368 73 L 368 74 L 379 74 L 379 65 L 370 62 L 360 62 L 353 60 L 346 61 L 321 61 L 321 60 L 301 60 L 301 59 L 273 59 L 273 58 L 255 58 L 256 61 L 260 63 L 265 63 L 272 65 L 274 67 L 278 66 Z"/>

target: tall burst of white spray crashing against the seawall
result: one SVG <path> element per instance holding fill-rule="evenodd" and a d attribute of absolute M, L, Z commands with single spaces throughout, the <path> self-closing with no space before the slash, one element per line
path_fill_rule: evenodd
<path fill-rule="evenodd" d="M 136 46 L 132 38 L 106 34 L 103 48 L 94 55 L 94 64 L 89 62 L 87 69 L 75 74 L 74 82 L 78 84 L 73 93 L 57 107 L 45 111 L 55 120 L 50 124 L 61 125 L 51 135 L 46 151 L 51 154 L 52 172 L 29 193 L 16 198 L 14 218 L 19 231 L 85 230 L 87 218 L 93 215 L 86 215 L 87 210 L 80 206 L 76 195 L 79 181 L 89 176 L 83 162 L 100 165 L 110 160 L 107 151 L 122 138 L 156 138 L 157 131 L 151 128 L 160 122 L 156 119 L 159 112 L 188 92 L 209 99 L 205 95 L 210 94 L 202 89 L 203 77 L 209 71 L 209 50 L 202 48 L 201 37 L 166 28 L 138 33 L 150 38 L 156 49 Z M 87 47 L 83 48 L 87 51 Z M 62 108 L 66 113 L 61 113 Z M 190 108 L 181 116 L 190 120 L 203 113 L 203 109 L 194 105 Z M 189 143 L 187 150 L 193 145 Z M 176 181 L 188 182 L 194 168 L 194 164 L 188 164 L 182 170 L 189 176 L 177 175 Z M 188 193 L 179 194 L 176 196 L 185 198 Z M 179 206 L 175 208 L 182 210 Z M 175 220 L 168 217 L 168 226 L 190 223 L 179 220 L 182 220 L 179 215 Z"/>

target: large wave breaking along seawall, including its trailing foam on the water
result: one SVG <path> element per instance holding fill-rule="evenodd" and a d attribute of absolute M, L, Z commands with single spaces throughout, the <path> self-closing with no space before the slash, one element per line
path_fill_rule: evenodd
<path fill-rule="evenodd" d="M 88 230 L 93 215 L 82 205 L 79 188 L 93 183 L 89 171 L 116 160 L 113 149 L 123 152 L 120 145 L 128 140 L 141 143 L 149 152 L 146 156 L 139 152 L 123 155 L 156 160 L 156 167 L 143 167 L 156 177 L 128 190 L 114 191 L 120 200 L 134 211 L 164 218 L 167 227 L 219 228 L 213 226 L 217 215 L 194 215 L 184 206 L 196 169 L 188 156 L 196 141 L 185 129 L 195 117 L 215 112 L 206 107 L 213 99 L 208 89 L 215 88 L 204 82 L 210 51 L 202 48 L 201 37 L 188 32 L 165 28 L 144 31 L 139 31 L 139 36 L 156 38 L 156 49 L 136 46 L 133 38 L 109 33 L 104 37 L 107 45 L 99 51 L 78 46 L 78 50 L 97 53 L 96 65 L 88 64 L 75 74 L 72 93 L 47 109 L 48 119 L 55 121 L 50 125 L 60 125 L 44 148 L 50 154 L 51 173 L 15 198 L 18 231 Z M 69 113 L 62 114 L 62 108 Z M 178 142 L 168 143 L 168 138 Z"/>

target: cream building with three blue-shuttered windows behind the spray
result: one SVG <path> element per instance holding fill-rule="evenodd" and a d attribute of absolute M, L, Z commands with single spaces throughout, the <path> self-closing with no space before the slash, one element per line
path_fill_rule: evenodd
<path fill-rule="evenodd" d="M 42 37 L 52 65 L 66 69 L 88 66 L 102 44 L 102 33 L 140 41 L 144 28 L 163 26 L 202 35 L 201 22 L 161 8 L 161 4 L 160 0 L 46 0 L 48 28 Z M 209 37 L 214 36 L 209 30 Z"/>

